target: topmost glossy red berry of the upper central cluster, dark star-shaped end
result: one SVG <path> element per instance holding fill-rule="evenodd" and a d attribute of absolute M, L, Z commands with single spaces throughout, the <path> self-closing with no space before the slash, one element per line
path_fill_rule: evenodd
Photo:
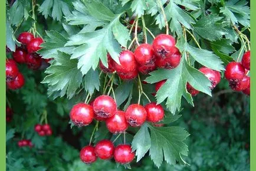
<path fill-rule="evenodd" d="M 157 35 L 152 43 L 153 52 L 158 58 L 166 58 L 172 53 L 172 48 L 175 46 L 175 39 L 171 35 Z"/>

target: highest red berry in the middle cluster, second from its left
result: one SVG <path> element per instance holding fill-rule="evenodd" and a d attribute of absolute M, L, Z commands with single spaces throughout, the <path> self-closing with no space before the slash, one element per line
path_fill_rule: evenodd
<path fill-rule="evenodd" d="M 101 95 L 94 100 L 93 111 L 100 118 L 110 118 L 116 110 L 116 102 L 110 96 Z"/>

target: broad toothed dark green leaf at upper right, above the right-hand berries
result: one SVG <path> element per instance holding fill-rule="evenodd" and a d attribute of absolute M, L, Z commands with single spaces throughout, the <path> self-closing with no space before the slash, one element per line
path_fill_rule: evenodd
<path fill-rule="evenodd" d="M 194 26 L 195 32 L 209 41 L 221 39 L 225 35 L 225 24 L 218 15 L 206 15 L 199 19 Z"/>

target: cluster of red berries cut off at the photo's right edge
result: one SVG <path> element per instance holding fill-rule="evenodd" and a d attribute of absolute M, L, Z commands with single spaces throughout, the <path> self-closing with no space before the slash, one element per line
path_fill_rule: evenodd
<path fill-rule="evenodd" d="M 250 95 L 250 77 L 247 76 L 250 71 L 251 52 L 247 51 L 242 56 L 241 62 L 230 62 L 226 66 L 225 78 L 229 82 L 229 86 L 232 90 L 243 92 L 246 95 Z"/>

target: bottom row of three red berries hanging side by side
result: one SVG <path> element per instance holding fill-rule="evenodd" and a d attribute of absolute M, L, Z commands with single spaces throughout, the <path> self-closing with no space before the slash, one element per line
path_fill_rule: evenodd
<path fill-rule="evenodd" d="M 86 164 L 95 162 L 98 157 L 109 160 L 113 156 L 117 163 L 127 164 L 132 162 L 135 153 L 132 152 L 130 145 L 122 144 L 114 147 L 113 142 L 106 139 L 99 141 L 95 147 L 88 145 L 80 151 L 80 159 Z"/>

